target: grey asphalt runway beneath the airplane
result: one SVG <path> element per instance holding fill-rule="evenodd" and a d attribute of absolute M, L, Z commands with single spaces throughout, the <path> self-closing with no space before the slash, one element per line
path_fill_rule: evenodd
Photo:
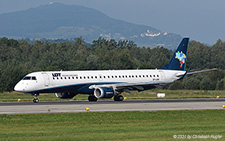
<path fill-rule="evenodd" d="M 223 109 L 225 98 L 0 102 L 0 114 Z M 225 109 L 224 109 L 225 110 Z"/>

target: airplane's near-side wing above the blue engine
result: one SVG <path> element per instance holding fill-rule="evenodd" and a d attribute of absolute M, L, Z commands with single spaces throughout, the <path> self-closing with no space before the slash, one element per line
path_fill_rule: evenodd
<path fill-rule="evenodd" d="M 172 83 L 173 81 L 150 81 L 150 82 L 137 82 L 137 83 L 117 83 L 117 84 L 106 84 L 106 85 L 91 85 L 89 89 L 95 89 L 99 87 L 112 87 L 115 91 L 125 91 L 130 93 L 129 90 L 139 90 L 143 91 L 145 86 L 164 86 L 166 84 Z"/>

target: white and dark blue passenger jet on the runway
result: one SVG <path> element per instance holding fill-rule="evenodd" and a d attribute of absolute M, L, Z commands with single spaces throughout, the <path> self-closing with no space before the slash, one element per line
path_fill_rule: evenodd
<path fill-rule="evenodd" d="M 183 38 L 169 63 L 160 69 L 33 72 L 19 81 L 14 90 L 33 94 L 34 103 L 39 102 L 40 93 L 55 93 L 61 99 L 88 94 L 89 101 L 112 97 L 114 101 L 123 101 L 123 92 L 149 90 L 195 73 L 215 70 L 185 71 L 188 45 L 189 38 Z"/>

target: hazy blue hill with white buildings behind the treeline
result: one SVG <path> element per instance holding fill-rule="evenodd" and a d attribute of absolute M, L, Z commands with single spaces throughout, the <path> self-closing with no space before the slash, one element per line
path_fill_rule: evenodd
<path fill-rule="evenodd" d="M 181 40 L 177 34 L 116 20 L 91 8 L 59 3 L 0 14 L 0 19 L 0 37 L 16 39 L 70 39 L 82 36 L 91 43 L 102 37 L 117 41 L 132 40 L 138 46 L 160 45 L 169 49 L 174 49 Z"/>

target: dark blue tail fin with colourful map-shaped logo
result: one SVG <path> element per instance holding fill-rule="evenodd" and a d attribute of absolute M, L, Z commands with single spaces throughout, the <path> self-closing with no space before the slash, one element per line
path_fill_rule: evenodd
<path fill-rule="evenodd" d="M 174 52 L 173 57 L 170 62 L 162 67 L 161 69 L 166 70 L 185 70 L 187 51 L 188 51 L 189 38 L 183 38 L 178 46 L 177 50 Z"/>

